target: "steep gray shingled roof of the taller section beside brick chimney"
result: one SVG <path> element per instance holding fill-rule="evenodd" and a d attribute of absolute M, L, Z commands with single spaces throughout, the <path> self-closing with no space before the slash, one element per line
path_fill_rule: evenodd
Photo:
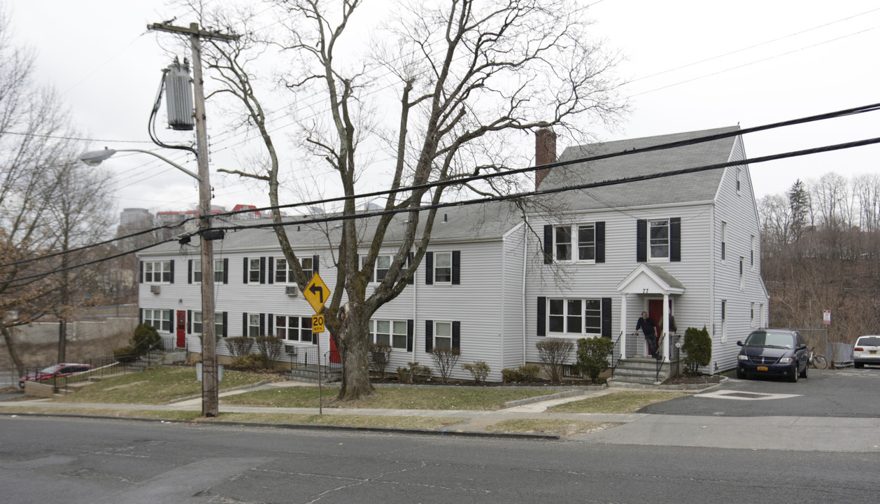
<path fill-rule="evenodd" d="M 587 158 L 598 154 L 628 151 L 736 130 L 739 130 L 738 126 L 689 131 L 659 137 L 633 138 L 601 144 L 578 145 L 566 148 L 559 160 Z M 554 167 L 541 182 L 539 189 L 569 187 L 643 174 L 663 173 L 685 167 L 723 163 L 730 160 L 735 143 L 736 137 L 728 137 L 675 149 L 642 152 L 611 159 L 577 163 L 566 167 Z M 710 170 L 603 188 L 575 190 L 563 194 L 569 210 L 709 201 L 715 198 L 722 174 L 722 169 Z M 551 197 L 559 197 L 559 195 Z"/>

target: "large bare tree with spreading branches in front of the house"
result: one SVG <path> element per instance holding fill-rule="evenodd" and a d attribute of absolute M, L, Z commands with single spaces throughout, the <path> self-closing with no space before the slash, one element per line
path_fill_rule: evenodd
<path fill-rule="evenodd" d="M 195 10 L 204 16 L 201 4 Z M 481 170 L 502 170 L 513 159 L 504 143 L 513 133 L 544 127 L 583 132 L 586 121 L 613 121 L 622 109 L 610 72 L 616 59 L 598 42 L 588 40 L 584 8 L 560 0 L 454 0 L 400 4 L 387 20 L 384 41 L 366 63 L 344 64 L 351 51 L 350 27 L 356 24 L 361 0 L 276 0 L 273 17 L 285 26 L 275 40 L 290 68 L 281 72 L 293 98 L 319 96 L 319 111 L 299 117 L 304 145 L 339 177 L 346 196 L 358 194 L 358 179 L 370 167 L 370 155 L 359 149 L 378 145 L 392 159 L 387 189 L 428 182 L 455 182 Z M 392 10 L 389 10 L 392 11 Z M 375 12 L 373 12 L 375 14 Z M 203 24 L 206 24 L 202 18 Z M 240 13 L 226 19 L 245 19 Z M 231 28 L 216 18 L 207 22 Z M 353 29 L 353 28 L 351 28 Z M 346 37 L 348 36 L 348 40 Z M 277 147 L 268 112 L 260 101 L 250 70 L 269 46 L 243 38 L 230 47 L 209 49 L 206 61 L 221 92 L 243 106 L 244 118 L 260 132 L 266 161 L 258 170 L 229 173 L 265 182 L 273 205 L 282 204 Z M 277 69 L 276 69 L 277 70 Z M 390 90 L 390 93 L 389 93 Z M 396 105 L 388 105 L 393 100 Z M 378 120 L 394 114 L 391 126 Z M 393 111 L 393 112 L 392 112 Z M 524 165 L 523 159 L 519 160 Z M 495 182 L 470 186 L 484 194 L 509 190 Z M 465 188 L 459 188 L 465 190 Z M 414 189 L 385 198 L 382 212 L 363 235 L 355 220 L 345 220 L 334 242 L 337 270 L 326 326 L 340 350 L 344 374 L 339 397 L 370 394 L 367 349 L 370 316 L 397 297 L 421 263 L 428 246 L 437 204 L 450 190 Z M 461 193 L 464 194 L 464 193 Z M 445 196 L 444 196 L 445 195 Z M 397 234 L 392 264 L 375 290 L 367 292 L 380 248 L 388 246 L 392 211 L 409 210 L 402 237 Z M 339 209 L 358 211 L 354 198 Z M 290 246 L 282 219 L 275 233 L 300 287 L 309 281 Z M 347 299 L 343 303 L 343 299 Z"/>

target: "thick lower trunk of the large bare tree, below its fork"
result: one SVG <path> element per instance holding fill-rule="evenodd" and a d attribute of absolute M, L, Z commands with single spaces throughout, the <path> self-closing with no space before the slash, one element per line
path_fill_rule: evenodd
<path fill-rule="evenodd" d="M 351 308 L 342 324 L 342 330 L 336 335 L 336 347 L 342 361 L 342 386 L 339 399 L 343 401 L 357 400 L 373 393 L 370 383 L 370 367 L 367 366 L 367 347 L 369 315 L 363 306 Z"/>

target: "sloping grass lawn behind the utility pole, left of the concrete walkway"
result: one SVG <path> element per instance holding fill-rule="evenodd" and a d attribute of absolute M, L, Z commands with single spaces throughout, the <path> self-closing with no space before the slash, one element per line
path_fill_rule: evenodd
<path fill-rule="evenodd" d="M 261 382 L 271 374 L 224 370 L 220 389 Z M 180 397 L 202 394 L 202 382 L 195 380 L 194 367 L 157 367 L 141 373 L 122 374 L 85 385 L 62 403 L 165 404 Z"/>

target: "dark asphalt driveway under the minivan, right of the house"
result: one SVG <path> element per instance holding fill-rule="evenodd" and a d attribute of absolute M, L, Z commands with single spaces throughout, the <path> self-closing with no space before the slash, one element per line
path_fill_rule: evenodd
<path fill-rule="evenodd" d="M 641 413 L 729 417 L 880 417 L 880 367 L 812 369 L 797 383 L 730 379 L 714 389 L 651 404 Z"/>

